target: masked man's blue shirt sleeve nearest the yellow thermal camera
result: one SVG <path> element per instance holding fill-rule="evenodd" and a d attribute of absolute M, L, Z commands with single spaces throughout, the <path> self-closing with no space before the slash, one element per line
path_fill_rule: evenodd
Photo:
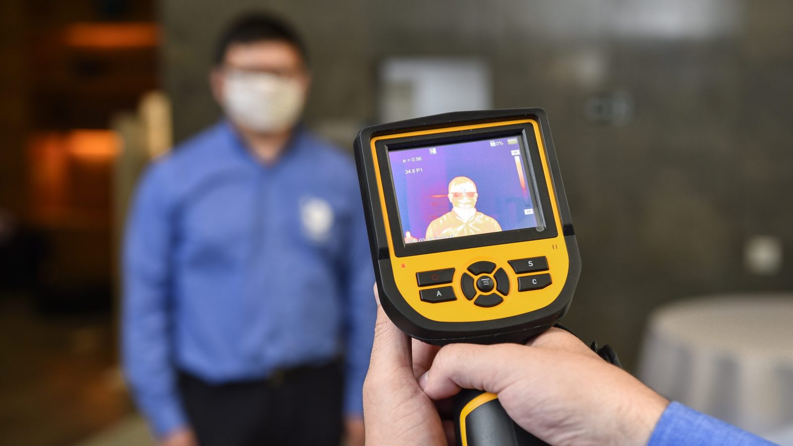
<path fill-rule="evenodd" d="M 351 199 L 356 211 L 350 225 L 349 258 L 344 281 L 347 284 L 344 413 L 347 417 L 363 417 L 362 388 L 369 369 L 377 303 L 372 291 L 374 268 L 366 236 L 366 221 L 358 184 L 354 186 Z"/>

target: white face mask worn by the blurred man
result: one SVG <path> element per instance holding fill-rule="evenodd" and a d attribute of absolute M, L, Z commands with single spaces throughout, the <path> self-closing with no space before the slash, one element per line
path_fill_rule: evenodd
<path fill-rule="evenodd" d="M 255 132 L 290 129 L 303 111 L 305 94 L 297 79 L 271 73 L 230 71 L 225 75 L 223 109 Z"/>

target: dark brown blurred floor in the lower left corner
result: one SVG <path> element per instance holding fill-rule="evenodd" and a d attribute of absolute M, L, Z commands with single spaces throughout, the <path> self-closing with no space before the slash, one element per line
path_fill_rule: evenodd
<path fill-rule="evenodd" d="M 75 444 L 132 413 L 112 313 L 41 314 L 0 294 L 0 444 Z"/>

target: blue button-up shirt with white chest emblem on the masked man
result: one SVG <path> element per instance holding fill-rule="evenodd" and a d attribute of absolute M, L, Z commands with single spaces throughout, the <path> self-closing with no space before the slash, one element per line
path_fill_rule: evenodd
<path fill-rule="evenodd" d="M 298 129 L 273 165 L 228 122 L 153 163 L 124 252 L 124 367 L 157 434 L 187 424 L 181 369 L 209 383 L 346 358 L 362 413 L 376 307 L 354 164 Z M 306 402 L 310 404 L 310 402 Z"/>

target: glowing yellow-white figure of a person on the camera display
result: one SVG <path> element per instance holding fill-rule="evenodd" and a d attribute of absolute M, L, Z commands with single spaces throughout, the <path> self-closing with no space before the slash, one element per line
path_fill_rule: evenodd
<path fill-rule="evenodd" d="M 458 176 L 449 182 L 452 209 L 433 220 L 427 227 L 425 240 L 497 233 L 501 230 L 495 218 L 477 211 L 477 185 L 472 179 Z"/>

